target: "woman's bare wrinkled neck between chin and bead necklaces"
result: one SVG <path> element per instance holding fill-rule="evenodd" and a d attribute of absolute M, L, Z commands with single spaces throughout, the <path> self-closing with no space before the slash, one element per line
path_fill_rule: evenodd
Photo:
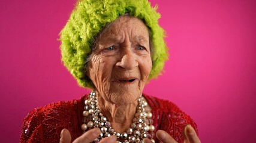
<path fill-rule="evenodd" d="M 125 132 L 131 126 L 138 104 L 137 100 L 126 105 L 116 105 L 104 100 L 100 95 L 97 96 L 97 100 L 101 113 L 107 117 L 116 132 Z"/>

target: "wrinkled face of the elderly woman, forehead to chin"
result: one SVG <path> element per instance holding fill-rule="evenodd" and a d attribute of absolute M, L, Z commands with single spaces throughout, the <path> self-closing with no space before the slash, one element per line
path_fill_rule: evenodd
<path fill-rule="evenodd" d="M 86 74 L 104 100 L 124 105 L 140 97 L 151 67 L 147 27 L 121 16 L 100 35 Z"/>

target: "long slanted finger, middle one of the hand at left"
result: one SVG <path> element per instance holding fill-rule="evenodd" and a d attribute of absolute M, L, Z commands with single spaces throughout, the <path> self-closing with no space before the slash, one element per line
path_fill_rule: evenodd
<path fill-rule="evenodd" d="M 79 136 L 73 143 L 89 143 L 94 141 L 101 133 L 99 128 L 94 128 L 88 130 L 87 132 L 83 133 L 83 135 Z"/>

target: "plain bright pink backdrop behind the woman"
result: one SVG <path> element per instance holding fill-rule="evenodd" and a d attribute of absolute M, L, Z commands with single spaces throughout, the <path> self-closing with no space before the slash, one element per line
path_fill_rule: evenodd
<path fill-rule="evenodd" d="M 88 93 L 61 64 L 58 34 L 75 0 L 0 2 L 1 142 L 19 142 L 35 107 Z M 144 93 L 175 102 L 202 142 L 255 142 L 256 2 L 159 1 L 170 60 Z"/>

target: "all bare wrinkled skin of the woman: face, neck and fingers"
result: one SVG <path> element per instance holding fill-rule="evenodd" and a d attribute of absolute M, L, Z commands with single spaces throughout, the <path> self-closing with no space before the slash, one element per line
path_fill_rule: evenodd
<path fill-rule="evenodd" d="M 103 30 L 86 74 L 95 85 L 98 107 L 116 131 L 124 132 L 131 125 L 151 67 L 149 32 L 143 21 L 124 15 Z M 98 135 L 100 129 L 91 129 L 74 143 L 89 143 Z M 183 135 L 185 142 L 200 142 L 191 126 L 186 126 Z M 164 143 L 176 142 L 163 130 L 158 130 L 156 137 Z M 116 136 L 101 140 L 115 141 Z M 67 129 L 62 130 L 60 142 L 71 142 Z"/>

